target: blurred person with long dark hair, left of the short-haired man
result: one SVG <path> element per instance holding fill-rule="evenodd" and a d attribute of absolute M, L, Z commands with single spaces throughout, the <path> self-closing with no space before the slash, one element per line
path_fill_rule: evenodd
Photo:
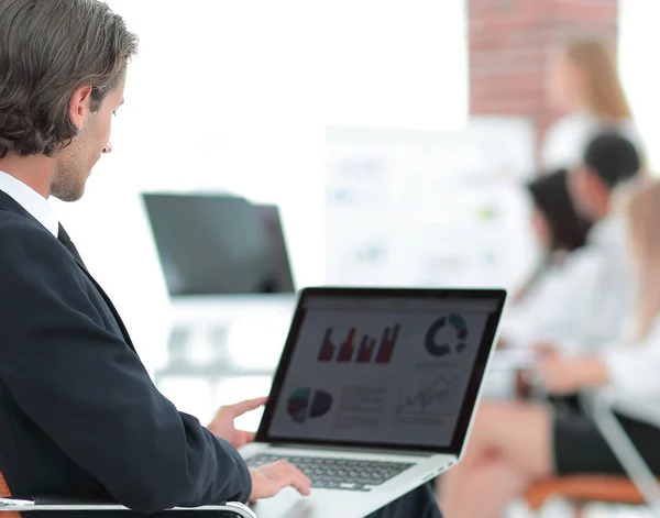
<path fill-rule="evenodd" d="M 586 243 L 591 221 L 579 214 L 568 188 L 566 169 L 542 175 L 527 184 L 532 202 L 531 229 L 541 250 L 541 261 L 529 280 L 512 299 L 501 335 L 516 343 L 516 331 L 535 320 L 535 312 L 552 308 L 563 293 L 564 268 L 571 267 L 571 253 Z M 525 334 L 522 334 L 525 337 Z"/>

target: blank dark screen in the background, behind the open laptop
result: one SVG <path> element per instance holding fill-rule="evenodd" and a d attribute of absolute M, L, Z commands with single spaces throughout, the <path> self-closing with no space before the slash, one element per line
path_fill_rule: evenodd
<path fill-rule="evenodd" d="M 143 195 L 170 296 L 293 293 L 276 206 L 229 195 Z"/>

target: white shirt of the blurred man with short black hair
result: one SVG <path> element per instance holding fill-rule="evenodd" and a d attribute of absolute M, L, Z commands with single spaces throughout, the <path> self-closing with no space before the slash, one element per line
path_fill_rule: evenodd
<path fill-rule="evenodd" d="M 507 315 L 503 339 L 514 348 L 552 343 L 574 355 L 619 337 L 635 293 L 626 241 L 618 214 L 596 223 L 585 246 L 550 273 L 531 304 Z"/>

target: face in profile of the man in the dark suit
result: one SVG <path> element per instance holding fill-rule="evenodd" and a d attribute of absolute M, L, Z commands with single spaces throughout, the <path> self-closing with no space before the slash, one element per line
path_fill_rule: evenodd
<path fill-rule="evenodd" d="M 57 155 L 51 195 L 63 201 L 77 201 L 85 194 L 87 178 L 103 153 L 110 153 L 112 115 L 123 102 L 125 77 L 108 92 L 98 110 L 91 111 L 88 98 L 81 106 L 84 122 L 70 144 Z"/>

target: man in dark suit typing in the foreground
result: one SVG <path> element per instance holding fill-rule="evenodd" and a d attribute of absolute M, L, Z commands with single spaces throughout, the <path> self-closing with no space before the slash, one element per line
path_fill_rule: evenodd
<path fill-rule="evenodd" d="M 123 102 L 136 37 L 97 0 L 0 0 L 0 471 L 16 497 L 141 513 L 255 500 L 309 478 L 249 470 L 239 415 L 208 427 L 152 384 L 120 316 L 47 198 L 75 201 Z M 437 517 L 428 488 L 378 516 Z M 266 517 L 267 518 L 267 517 Z"/>

